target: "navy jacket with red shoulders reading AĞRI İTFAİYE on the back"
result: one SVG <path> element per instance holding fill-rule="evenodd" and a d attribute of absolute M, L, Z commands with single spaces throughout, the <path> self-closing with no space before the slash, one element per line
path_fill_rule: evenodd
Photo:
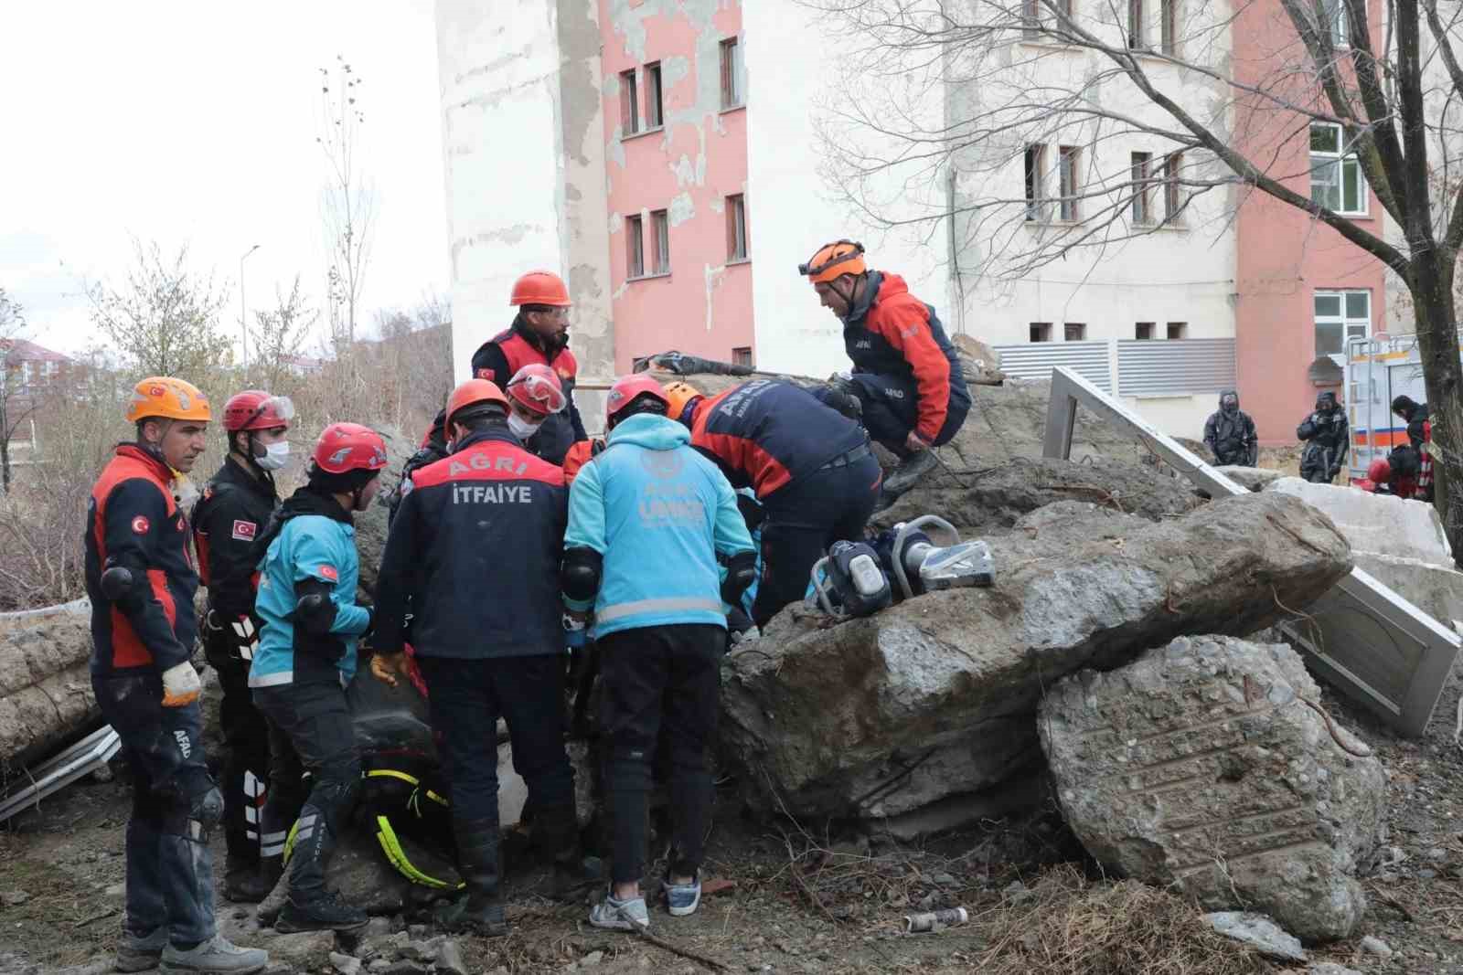
<path fill-rule="evenodd" d="M 411 612 L 417 656 L 563 653 L 563 471 L 499 427 L 464 439 L 410 484 L 380 560 L 376 649 L 402 649 Z"/>

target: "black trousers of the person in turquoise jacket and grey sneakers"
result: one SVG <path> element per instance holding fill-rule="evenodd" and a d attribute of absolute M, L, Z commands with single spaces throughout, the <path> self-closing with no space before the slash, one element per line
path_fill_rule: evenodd
<path fill-rule="evenodd" d="M 676 838 L 670 871 L 695 874 L 701 868 L 711 816 L 707 746 L 717 731 L 726 639 L 718 626 L 672 624 L 620 630 L 598 640 L 614 883 L 638 883 L 645 873 L 645 801 L 661 731 L 670 757 Z"/>

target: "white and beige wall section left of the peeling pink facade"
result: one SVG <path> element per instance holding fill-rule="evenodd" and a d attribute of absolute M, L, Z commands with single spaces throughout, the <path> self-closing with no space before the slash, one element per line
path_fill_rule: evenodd
<path fill-rule="evenodd" d="M 595 16 L 578 0 L 437 0 L 458 380 L 533 269 L 569 284 L 581 376 L 612 368 Z"/>

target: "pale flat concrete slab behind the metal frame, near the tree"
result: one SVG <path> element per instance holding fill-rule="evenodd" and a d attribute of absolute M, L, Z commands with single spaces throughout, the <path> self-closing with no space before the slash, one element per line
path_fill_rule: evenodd
<path fill-rule="evenodd" d="M 1438 510 L 1422 501 L 1353 487 L 1280 478 L 1267 490 L 1293 494 L 1325 512 L 1356 551 L 1451 566 L 1453 551 Z"/>

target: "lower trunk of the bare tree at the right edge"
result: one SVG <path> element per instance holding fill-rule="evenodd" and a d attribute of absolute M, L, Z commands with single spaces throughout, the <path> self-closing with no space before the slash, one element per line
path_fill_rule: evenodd
<path fill-rule="evenodd" d="M 1434 497 L 1453 557 L 1463 557 L 1463 361 L 1459 358 L 1450 256 L 1425 251 L 1412 260 L 1422 380 L 1432 420 Z"/>

